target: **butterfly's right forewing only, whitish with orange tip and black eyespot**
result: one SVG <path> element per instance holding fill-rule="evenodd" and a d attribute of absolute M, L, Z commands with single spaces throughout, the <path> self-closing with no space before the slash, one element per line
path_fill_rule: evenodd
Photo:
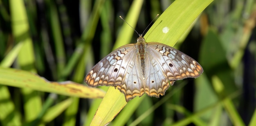
<path fill-rule="evenodd" d="M 168 80 L 197 78 L 203 72 L 201 65 L 183 52 L 162 43 L 148 43 L 149 54 L 155 54 Z M 162 63 L 161 63 L 162 62 Z"/>

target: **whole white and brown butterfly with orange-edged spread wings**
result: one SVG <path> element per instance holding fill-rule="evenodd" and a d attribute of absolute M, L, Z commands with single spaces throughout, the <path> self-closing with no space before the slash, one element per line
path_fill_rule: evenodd
<path fill-rule="evenodd" d="M 144 93 L 159 98 L 176 80 L 202 74 L 201 65 L 188 55 L 162 43 L 147 43 L 138 35 L 137 43 L 117 48 L 92 67 L 84 82 L 91 87 L 115 86 L 128 102 Z"/>

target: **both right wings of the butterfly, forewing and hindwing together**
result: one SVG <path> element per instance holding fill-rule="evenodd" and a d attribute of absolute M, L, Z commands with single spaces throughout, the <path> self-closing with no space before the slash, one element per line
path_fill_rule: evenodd
<path fill-rule="evenodd" d="M 198 62 L 183 52 L 162 43 L 147 43 L 145 60 L 146 88 L 148 96 L 159 98 L 173 85 L 175 80 L 202 74 L 203 69 Z"/>

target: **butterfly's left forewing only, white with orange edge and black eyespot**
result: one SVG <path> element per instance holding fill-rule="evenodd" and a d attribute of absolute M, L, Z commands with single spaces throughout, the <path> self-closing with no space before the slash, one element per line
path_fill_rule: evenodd
<path fill-rule="evenodd" d="M 135 44 L 128 44 L 112 51 L 99 63 L 94 65 L 85 76 L 84 82 L 91 87 L 100 85 L 121 85 L 125 76 L 125 70 L 135 53 Z"/>

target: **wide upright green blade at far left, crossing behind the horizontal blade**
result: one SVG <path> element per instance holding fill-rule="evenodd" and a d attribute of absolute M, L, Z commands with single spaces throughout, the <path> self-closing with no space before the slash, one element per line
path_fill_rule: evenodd
<path fill-rule="evenodd" d="M 15 41 L 24 42 L 17 57 L 17 64 L 20 69 L 36 73 L 34 67 L 34 50 L 32 39 L 29 35 L 29 22 L 25 4 L 21 0 L 10 0 L 12 31 Z M 21 90 L 24 100 L 25 120 L 30 122 L 36 119 L 42 108 L 40 96 L 36 91 L 24 88 Z M 33 96 L 33 98 L 31 98 Z M 21 106 L 21 105 L 20 105 Z M 33 108 L 33 109 L 31 109 Z"/>

